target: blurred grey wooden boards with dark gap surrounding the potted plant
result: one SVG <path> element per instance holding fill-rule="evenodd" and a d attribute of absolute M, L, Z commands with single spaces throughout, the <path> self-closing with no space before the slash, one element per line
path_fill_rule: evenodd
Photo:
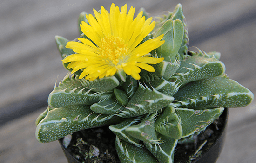
<path fill-rule="evenodd" d="M 113 2 L 144 7 L 151 16 L 181 3 L 189 47 L 221 52 L 226 74 L 256 94 L 255 0 L 0 1 L 0 162 L 67 162 L 57 141 L 41 144 L 34 136 L 48 94 L 67 74 L 54 36 L 79 37 L 79 13 L 109 10 Z M 256 162 L 255 135 L 256 100 L 231 108 L 218 163 Z"/>

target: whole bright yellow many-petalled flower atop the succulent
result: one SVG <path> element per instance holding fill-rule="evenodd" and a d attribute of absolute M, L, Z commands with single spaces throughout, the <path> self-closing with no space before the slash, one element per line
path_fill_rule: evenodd
<path fill-rule="evenodd" d="M 103 6 L 101 13 L 94 10 L 96 19 L 86 15 L 90 25 L 82 22 L 80 27 L 90 40 L 78 38 L 81 42 L 68 42 L 66 47 L 76 54 L 65 57 L 63 63 L 70 62 L 68 68 L 73 69 L 72 73 L 81 69 L 79 78 L 88 80 L 113 76 L 121 70 L 139 80 L 141 69 L 155 72 L 148 64 L 160 63 L 164 58 L 145 55 L 164 43 L 163 35 L 140 44 L 155 27 L 155 21 L 145 20 L 142 11 L 133 19 L 134 13 L 134 7 L 127 13 L 127 5 L 119 11 L 119 7 L 112 4 L 109 13 Z"/>

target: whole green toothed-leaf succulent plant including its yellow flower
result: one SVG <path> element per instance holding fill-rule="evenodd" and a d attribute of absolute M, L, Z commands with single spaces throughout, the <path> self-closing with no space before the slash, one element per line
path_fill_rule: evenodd
<path fill-rule="evenodd" d="M 95 17 L 83 12 L 78 40 L 55 37 L 71 72 L 49 94 L 36 138 L 47 143 L 107 125 L 121 162 L 171 163 L 178 141 L 254 95 L 224 74 L 220 53 L 188 50 L 181 4 L 151 24 L 144 9 L 133 19 L 134 8 L 126 14 L 126 7 L 101 7 Z"/>

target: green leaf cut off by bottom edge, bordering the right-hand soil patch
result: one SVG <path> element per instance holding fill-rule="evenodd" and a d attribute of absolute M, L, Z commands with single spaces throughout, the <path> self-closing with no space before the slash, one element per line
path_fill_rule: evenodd
<path fill-rule="evenodd" d="M 147 149 L 157 158 L 160 163 L 173 163 L 175 147 L 178 140 L 158 134 L 161 138 L 160 144 L 151 144 L 144 142 Z"/>

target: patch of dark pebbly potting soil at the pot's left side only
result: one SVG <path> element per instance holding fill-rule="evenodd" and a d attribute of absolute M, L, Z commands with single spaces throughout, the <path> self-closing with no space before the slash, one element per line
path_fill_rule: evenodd
<path fill-rule="evenodd" d="M 80 162 L 120 163 L 115 151 L 115 134 L 108 127 L 74 132 L 67 150 Z"/>

